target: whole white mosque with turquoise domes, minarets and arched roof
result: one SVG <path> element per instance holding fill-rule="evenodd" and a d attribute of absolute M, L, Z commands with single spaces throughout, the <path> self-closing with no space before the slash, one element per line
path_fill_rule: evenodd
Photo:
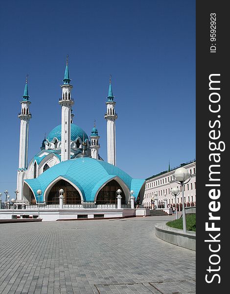
<path fill-rule="evenodd" d="M 38 203 L 37 190 L 41 190 L 39 202 L 45 204 L 59 203 L 59 190 L 63 189 L 64 204 L 92 202 L 116 203 L 120 189 L 122 203 L 127 203 L 130 191 L 134 191 L 142 202 L 145 180 L 134 179 L 116 167 L 115 100 L 112 91 L 111 77 L 109 93 L 106 100 L 107 122 L 107 156 L 105 162 L 99 155 L 99 139 L 94 126 L 90 136 L 73 123 L 71 96 L 73 86 L 70 84 L 68 59 L 63 79 L 61 106 L 61 124 L 53 128 L 43 140 L 41 150 L 28 164 L 29 121 L 32 118 L 29 107 L 26 78 L 24 95 L 21 100 L 19 168 L 17 175 L 17 201 L 30 204 Z M 32 99 L 31 99 L 32 100 Z"/>

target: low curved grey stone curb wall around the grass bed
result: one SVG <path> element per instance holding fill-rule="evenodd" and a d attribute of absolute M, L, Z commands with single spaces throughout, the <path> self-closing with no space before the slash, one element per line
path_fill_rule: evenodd
<path fill-rule="evenodd" d="M 166 225 L 167 221 L 156 223 L 156 236 L 165 242 L 178 245 L 196 251 L 196 232 L 187 231 L 184 233 L 180 229 L 171 228 Z"/>

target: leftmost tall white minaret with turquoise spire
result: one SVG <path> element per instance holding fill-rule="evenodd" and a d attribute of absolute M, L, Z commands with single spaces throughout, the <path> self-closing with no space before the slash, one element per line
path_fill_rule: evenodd
<path fill-rule="evenodd" d="M 28 135 L 29 135 L 29 120 L 31 119 L 31 113 L 29 112 L 29 95 L 28 95 L 28 75 L 26 76 L 25 88 L 23 100 L 21 101 L 21 113 L 18 117 L 21 120 L 20 125 L 20 143 L 19 143 L 19 168 L 17 176 L 17 190 L 19 191 L 17 201 L 23 199 L 23 180 L 28 165 Z"/>

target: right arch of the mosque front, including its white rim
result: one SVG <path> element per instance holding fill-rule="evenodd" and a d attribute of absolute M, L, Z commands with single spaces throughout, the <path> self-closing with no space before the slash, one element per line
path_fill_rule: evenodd
<path fill-rule="evenodd" d="M 122 191 L 120 194 L 120 196 L 122 196 L 121 203 L 126 203 L 129 200 L 129 188 L 118 176 L 109 179 L 97 190 L 94 202 L 96 202 L 96 204 L 117 203 L 116 191 L 118 189 Z"/>

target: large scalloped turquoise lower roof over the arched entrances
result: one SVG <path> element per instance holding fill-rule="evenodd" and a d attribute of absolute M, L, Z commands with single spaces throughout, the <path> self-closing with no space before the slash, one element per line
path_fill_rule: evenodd
<path fill-rule="evenodd" d="M 93 201 L 97 190 L 115 176 L 119 177 L 129 190 L 135 191 L 135 197 L 138 196 L 145 182 L 144 179 L 133 179 L 114 165 L 91 157 L 63 161 L 43 172 L 38 178 L 26 179 L 25 182 L 31 187 L 34 195 L 37 196 L 36 191 L 38 189 L 43 191 L 42 196 L 40 196 L 40 201 L 42 201 L 48 185 L 59 176 L 76 185 L 80 189 L 84 201 Z"/>

